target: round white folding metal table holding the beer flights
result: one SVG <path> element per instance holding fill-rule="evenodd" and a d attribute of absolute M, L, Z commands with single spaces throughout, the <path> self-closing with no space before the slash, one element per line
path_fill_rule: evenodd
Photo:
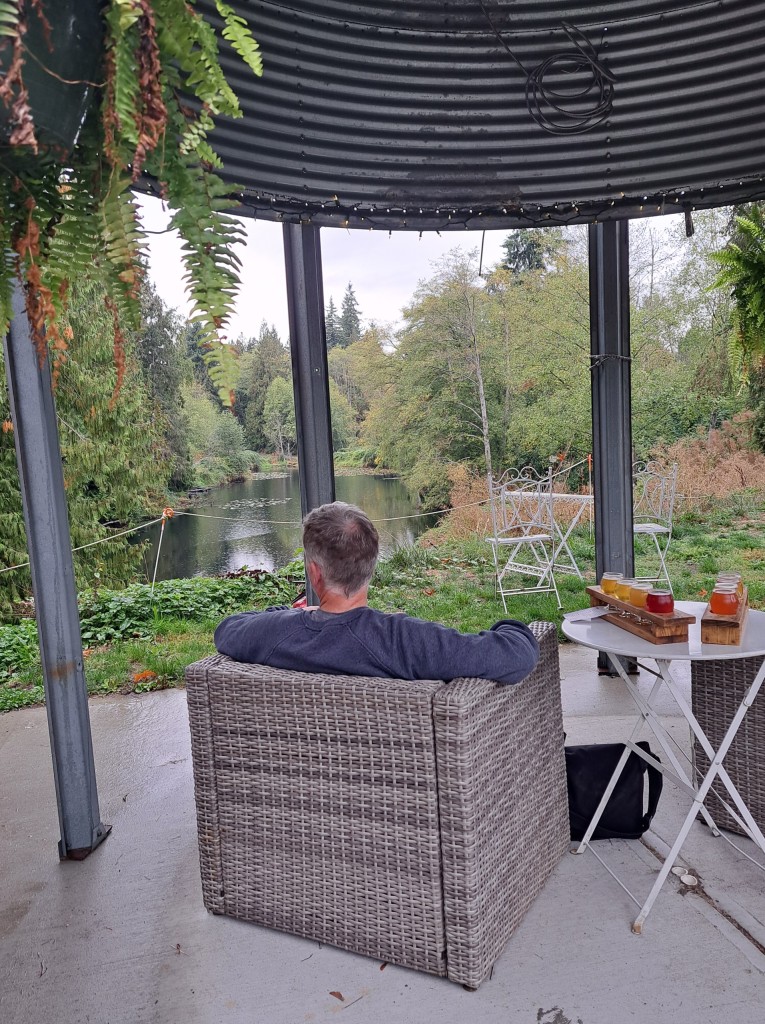
<path fill-rule="evenodd" d="M 629 889 L 627 889 L 627 887 L 619 879 L 617 879 L 619 884 L 623 889 L 625 889 L 631 899 L 638 905 L 638 907 L 640 907 L 640 911 L 632 926 L 632 930 L 638 934 L 642 931 L 643 923 L 648 916 L 650 908 L 653 905 L 662 886 L 677 860 L 682 845 L 690 831 L 690 826 L 696 815 L 700 813 L 710 827 L 714 830 L 715 835 L 719 835 L 719 830 L 717 829 L 712 816 L 704 805 L 705 798 L 717 778 L 720 779 L 727 790 L 734 805 L 735 812 L 731 809 L 731 813 L 735 813 L 736 820 L 745 829 L 747 835 L 754 843 L 757 844 L 760 850 L 765 853 L 765 837 L 763 837 L 757 822 L 752 817 L 749 808 L 723 766 L 725 755 L 730 749 L 730 744 L 733 742 L 735 734 L 743 721 L 743 717 L 752 707 L 752 703 L 762 686 L 763 680 L 765 680 L 765 612 L 750 609 L 749 614 L 747 615 L 741 643 L 736 646 L 728 646 L 722 644 L 702 643 L 700 622 L 706 604 L 698 601 L 677 601 L 675 603 L 675 607 L 679 611 L 695 615 L 695 624 L 690 626 L 688 629 L 687 643 L 653 644 L 649 640 L 643 640 L 641 637 L 635 636 L 627 630 L 621 629 L 619 626 L 604 622 L 602 618 L 598 617 L 597 613 L 599 609 L 597 608 L 587 609 L 587 611 L 570 612 L 569 615 L 564 617 L 562 625 L 563 634 L 568 637 L 569 640 L 573 640 L 575 643 L 582 644 L 585 647 L 592 647 L 595 650 L 601 650 L 608 655 L 611 665 L 627 686 L 627 689 L 629 690 L 640 713 L 637 721 L 635 722 L 632 733 L 626 742 L 624 754 L 620 758 L 619 764 L 617 765 L 608 785 L 606 786 L 605 793 L 603 794 L 603 798 L 598 804 L 593 819 L 590 822 L 582 842 L 577 847 L 576 852 L 583 853 L 588 847 L 590 847 L 591 850 L 593 849 L 592 846 L 590 846 L 590 839 L 598 821 L 600 820 L 600 816 L 603 813 L 606 804 L 608 803 L 608 798 L 613 792 L 624 766 L 627 763 L 630 751 L 634 751 L 638 757 L 641 757 L 644 761 L 647 761 L 649 764 L 656 767 L 663 775 L 683 790 L 691 799 L 691 807 L 685 816 L 677 839 L 667 855 L 667 859 L 665 860 L 645 902 L 641 905 L 640 901 L 635 898 Z M 588 614 L 592 617 L 587 617 Z M 624 665 L 620 660 L 620 657 L 637 659 L 638 663 L 648 658 L 655 663 L 655 672 L 651 669 L 647 669 L 649 673 L 655 676 L 655 682 L 653 683 L 647 697 L 640 692 L 634 681 L 630 679 L 629 675 L 625 671 Z M 729 658 L 747 657 L 762 657 L 763 662 L 757 672 L 757 675 L 747 689 L 747 692 L 745 693 L 743 698 L 736 709 L 730 723 L 728 724 L 722 742 L 720 743 L 718 750 L 715 751 L 704 729 L 693 715 L 693 711 L 686 700 L 677 680 L 673 678 L 672 663 L 724 660 Z M 646 668 L 645 666 L 642 667 Z M 670 739 L 667 730 L 662 725 L 658 715 L 656 714 L 656 698 L 662 687 L 664 686 L 666 686 L 672 694 L 675 702 L 682 712 L 683 717 L 690 726 L 692 734 L 696 737 L 698 743 L 710 760 L 709 770 L 697 783 L 688 776 L 688 773 L 680 763 L 673 749 L 672 740 Z M 641 750 L 641 748 L 637 746 L 636 741 L 640 735 L 643 725 L 647 725 L 655 736 L 664 755 L 666 755 L 666 762 L 658 762 L 655 758 L 652 758 L 650 755 Z M 593 850 L 593 853 L 595 851 Z M 598 859 L 601 858 L 598 857 Z M 602 860 L 601 863 L 603 863 Z M 758 866 L 762 867 L 763 865 Z M 608 868 L 608 870 L 610 871 L 610 868 Z M 613 874 L 612 871 L 610 871 L 610 873 Z M 615 876 L 613 877 L 615 879 Z"/>

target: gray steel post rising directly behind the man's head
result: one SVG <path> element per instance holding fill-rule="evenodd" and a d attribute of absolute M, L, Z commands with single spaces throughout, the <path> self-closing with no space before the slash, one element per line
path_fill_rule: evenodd
<path fill-rule="evenodd" d="M 318 505 L 335 500 L 330 374 L 318 231 L 320 228 L 312 224 L 284 225 L 292 385 L 303 515 Z M 308 603 L 316 603 L 307 579 L 306 586 Z"/>

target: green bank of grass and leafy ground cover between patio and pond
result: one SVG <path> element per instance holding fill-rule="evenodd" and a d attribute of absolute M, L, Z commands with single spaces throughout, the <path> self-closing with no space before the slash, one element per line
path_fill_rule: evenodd
<path fill-rule="evenodd" d="M 589 530 L 578 528 L 571 546 L 585 580 L 558 578 L 563 612 L 586 607 L 585 586 L 595 579 Z M 704 600 L 715 573 L 737 569 L 750 603 L 765 607 L 762 522 L 720 508 L 709 516 L 681 517 L 668 564 L 675 595 Z M 449 539 L 443 528 L 423 535 L 377 567 L 370 604 L 406 611 L 463 632 L 477 632 L 509 614 L 522 622 L 560 624 L 552 595 L 519 595 L 505 612 L 495 593 L 494 563 L 480 537 Z M 638 568 L 641 559 L 638 553 Z M 245 582 L 242 582 L 245 581 Z M 250 582 L 247 582 L 250 581 Z M 224 614 L 268 604 L 291 603 L 303 587 L 302 564 L 237 579 L 197 578 L 103 591 L 83 607 L 86 678 L 91 693 L 143 692 L 182 685 L 186 665 L 213 651 L 213 632 Z M 44 697 L 34 623 L 0 627 L 0 711 L 38 703 Z"/>

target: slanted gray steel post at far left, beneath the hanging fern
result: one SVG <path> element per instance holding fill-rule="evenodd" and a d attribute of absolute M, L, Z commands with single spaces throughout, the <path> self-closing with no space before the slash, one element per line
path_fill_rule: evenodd
<path fill-rule="evenodd" d="M 95 784 L 88 692 L 72 561 L 55 406 L 47 360 L 30 337 L 16 287 L 5 372 L 35 595 L 61 838 L 58 855 L 81 860 L 105 839 Z"/>

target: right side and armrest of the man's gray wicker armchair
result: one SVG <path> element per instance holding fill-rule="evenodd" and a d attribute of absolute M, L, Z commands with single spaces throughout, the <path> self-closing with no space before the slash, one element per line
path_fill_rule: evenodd
<path fill-rule="evenodd" d="M 449 977 L 477 986 L 569 844 L 555 627 L 518 686 L 434 695 Z"/>

